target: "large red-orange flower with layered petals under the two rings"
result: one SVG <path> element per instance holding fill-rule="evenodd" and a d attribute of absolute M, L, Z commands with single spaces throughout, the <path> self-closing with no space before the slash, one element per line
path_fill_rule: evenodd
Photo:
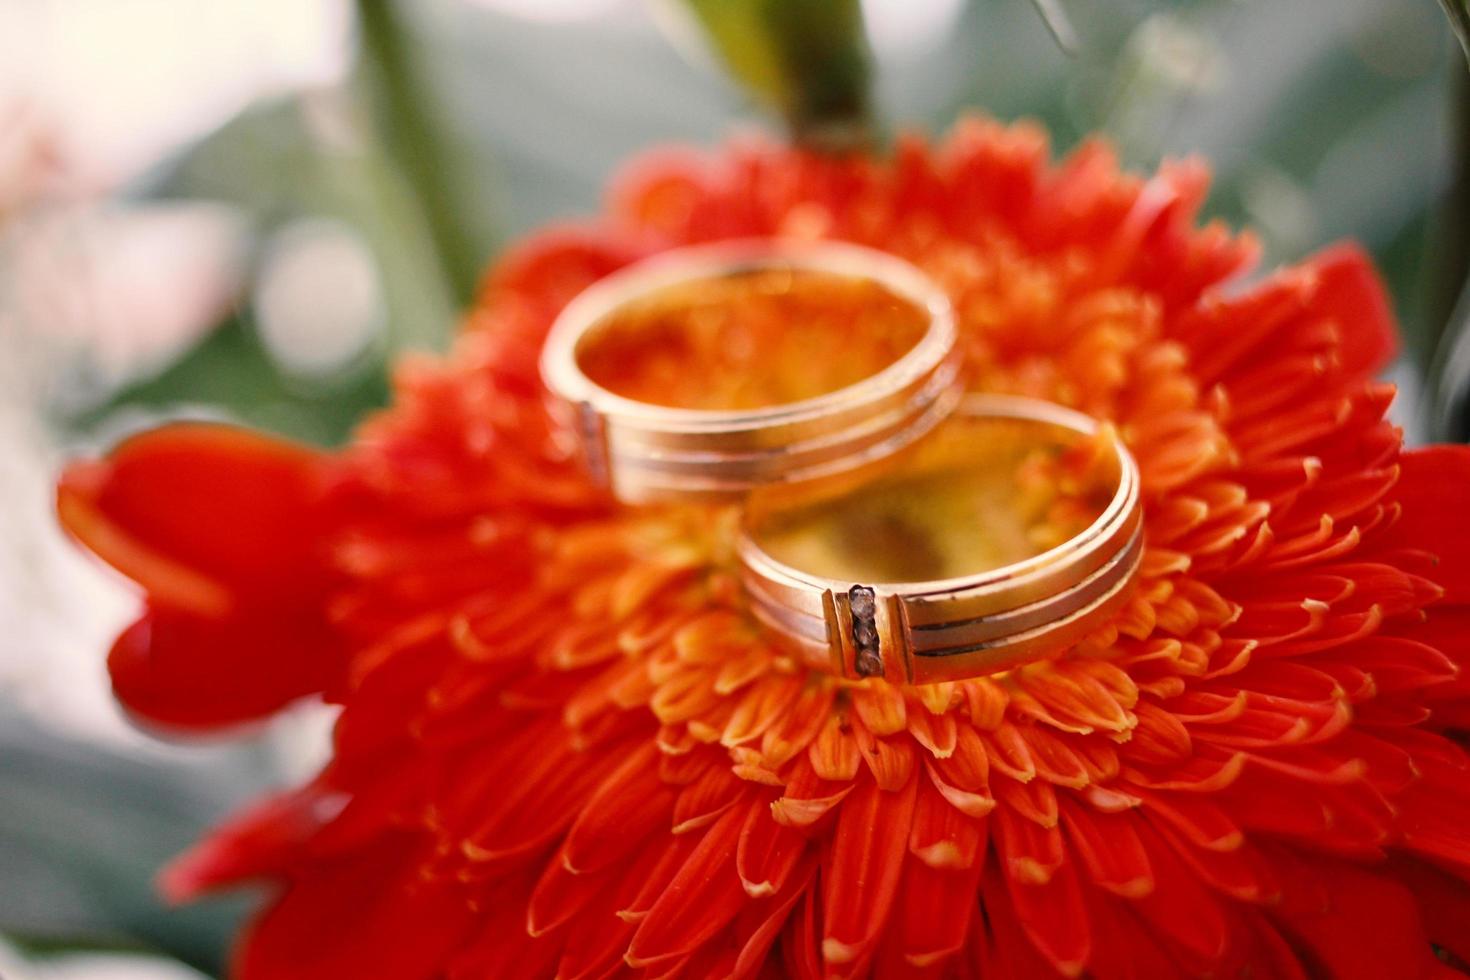
<path fill-rule="evenodd" d="M 146 720 L 310 693 L 335 754 L 163 877 L 273 883 L 245 980 L 1452 974 L 1470 961 L 1470 451 L 1401 451 L 1352 247 L 1250 287 L 1197 163 L 1060 165 L 961 123 L 891 160 L 662 151 L 490 275 L 341 454 L 171 426 L 60 511 L 147 591 Z M 953 294 L 975 385 L 1113 419 L 1147 558 L 1116 621 L 1008 674 L 813 674 L 751 623 L 726 511 L 617 508 L 537 354 L 678 244 L 833 237 Z M 1438 555 L 1438 560 L 1436 560 Z"/>

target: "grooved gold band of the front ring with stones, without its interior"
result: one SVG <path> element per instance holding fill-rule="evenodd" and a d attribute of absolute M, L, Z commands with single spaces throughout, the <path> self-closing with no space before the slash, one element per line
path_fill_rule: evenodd
<path fill-rule="evenodd" d="M 970 395 L 956 416 L 1044 423 L 1078 436 L 1101 430 L 1095 419 L 1070 408 L 1010 395 Z M 757 491 L 738 545 L 750 608 L 803 661 L 853 679 L 933 683 L 1057 654 L 1123 604 L 1142 557 L 1138 466 L 1111 429 L 1107 435 L 1117 485 L 1085 530 L 963 577 L 851 582 L 778 561 L 753 532 L 773 505 Z"/>

